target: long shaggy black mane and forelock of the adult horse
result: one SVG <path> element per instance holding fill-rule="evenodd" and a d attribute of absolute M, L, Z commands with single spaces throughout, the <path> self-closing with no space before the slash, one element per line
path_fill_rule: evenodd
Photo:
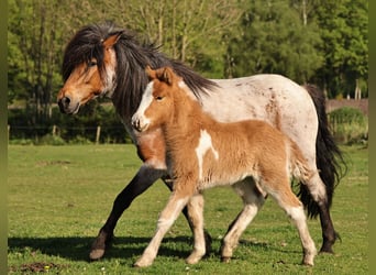
<path fill-rule="evenodd" d="M 122 118 L 130 119 L 140 105 L 142 94 L 148 82 L 145 73 L 147 65 L 152 68 L 173 67 L 198 99 L 200 95 L 207 94 L 207 90 L 217 86 L 183 63 L 166 57 L 154 43 L 140 43 L 133 32 L 120 29 L 111 22 L 84 26 L 71 38 L 64 53 L 62 72 L 64 81 L 77 65 L 84 62 L 89 63 L 93 57 L 103 77 L 106 68 L 102 42 L 117 33 L 121 33 L 121 36 L 114 45 L 118 66 L 117 88 L 112 101 Z"/>

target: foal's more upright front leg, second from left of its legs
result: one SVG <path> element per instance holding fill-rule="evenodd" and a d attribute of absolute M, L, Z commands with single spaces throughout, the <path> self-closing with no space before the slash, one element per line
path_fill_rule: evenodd
<path fill-rule="evenodd" d="M 192 253 L 187 257 L 188 264 L 198 263 L 206 254 L 206 238 L 203 233 L 203 196 L 197 194 L 189 200 L 187 207 L 191 230 L 193 232 L 195 245 Z"/>

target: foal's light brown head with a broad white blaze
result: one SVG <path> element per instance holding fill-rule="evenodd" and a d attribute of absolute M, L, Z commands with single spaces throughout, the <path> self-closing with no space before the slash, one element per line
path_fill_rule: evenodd
<path fill-rule="evenodd" d="M 173 117 L 174 100 L 183 78 L 172 68 L 146 68 L 150 82 L 143 94 L 140 107 L 132 117 L 132 125 L 140 132 L 161 127 Z"/>

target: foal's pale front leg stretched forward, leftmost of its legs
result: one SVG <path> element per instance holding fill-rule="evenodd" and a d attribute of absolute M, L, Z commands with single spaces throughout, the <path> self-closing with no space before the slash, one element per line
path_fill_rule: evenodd
<path fill-rule="evenodd" d="M 183 208 L 188 204 L 191 196 L 192 191 L 186 191 L 183 190 L 183 188 L 178 188 L 177 190 L 174 190 L 172 193 L 166 207 L 159 215 L 157 229 L 152 241 L 144 250 L 142 256 L 134 263 L 134 266 L 145 267 L 152 265 L 154 258 L 158 253 L 158 249 L 164 235 L 173 226 L 173 223 L 181 212 Z"/>

